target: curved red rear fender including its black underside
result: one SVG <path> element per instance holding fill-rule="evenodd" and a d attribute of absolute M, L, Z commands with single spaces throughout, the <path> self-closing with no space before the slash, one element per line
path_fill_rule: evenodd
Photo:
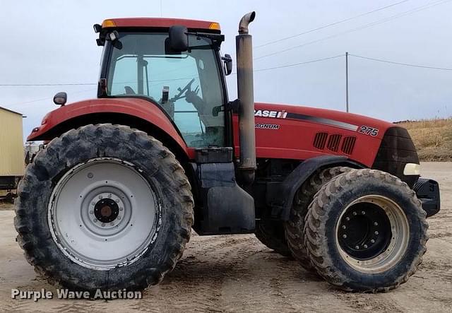
<path fill-rule="evenodd" d="M 194 149 L 186 146 L 166 112 L 153 102 L 138 98 L 83 100 L 59 107 L 42 119 L 41 126 L 32 130 L 27 141 L 49 141 L 70 129 L 97 123 L 132 126 L 154 136 L 157 133 L 160 140 L 163 136 L 167 139 L 165 141 L 182 153 L 179 156 L 194 158 Z"/>

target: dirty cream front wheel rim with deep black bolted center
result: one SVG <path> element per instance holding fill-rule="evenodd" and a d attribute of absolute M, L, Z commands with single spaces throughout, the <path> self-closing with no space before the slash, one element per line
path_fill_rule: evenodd
<path fill-rule="evenodd" d="M 336 223 L 336 247 L 352 268 L 381 273 L 403 257 L 410 226 L 403 209 L 386 196 L 369 194 L 352 201 Z"/>

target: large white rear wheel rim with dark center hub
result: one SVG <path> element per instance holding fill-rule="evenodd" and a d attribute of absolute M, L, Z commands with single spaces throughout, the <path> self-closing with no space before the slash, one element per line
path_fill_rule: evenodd
<path fill-rule="evenodd" d="M 95 158 L 76 165 L 54 188 L 52 237 L 71 261 L 108 270 L 132 264 L 157 238 L 160 204 L 131 163 Z"/>

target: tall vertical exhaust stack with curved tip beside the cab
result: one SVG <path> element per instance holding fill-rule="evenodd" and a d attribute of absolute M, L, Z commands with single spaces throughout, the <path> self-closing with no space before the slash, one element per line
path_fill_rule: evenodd
<path fill-rule="evenodd" d="M 254 129 L 254 83 L 253 45 L 248 25 L 256 17 L 250 12 L 239 23 L 239 35 L 235 37 L 237 52 L 237 94 L 239 98 L 239 138 L 242 180 L 246 184 L 254 182 L 256 171 L 256 136 Z"/>

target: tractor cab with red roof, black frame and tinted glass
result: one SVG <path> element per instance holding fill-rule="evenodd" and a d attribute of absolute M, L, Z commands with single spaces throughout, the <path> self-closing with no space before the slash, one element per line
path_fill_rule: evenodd
<path fill-rule="evenodd" d="M 97 44 L 105 46 L 98 97 L 148 100 L 167 114 L 187 146 L 225 146 L 225 114 L 218 110 L 227 102 L 220 25 L 177 24 L 187 20 L 131 18 L 95 25 Z M 230 68 L 230 59 L 225 63 Z"/>

